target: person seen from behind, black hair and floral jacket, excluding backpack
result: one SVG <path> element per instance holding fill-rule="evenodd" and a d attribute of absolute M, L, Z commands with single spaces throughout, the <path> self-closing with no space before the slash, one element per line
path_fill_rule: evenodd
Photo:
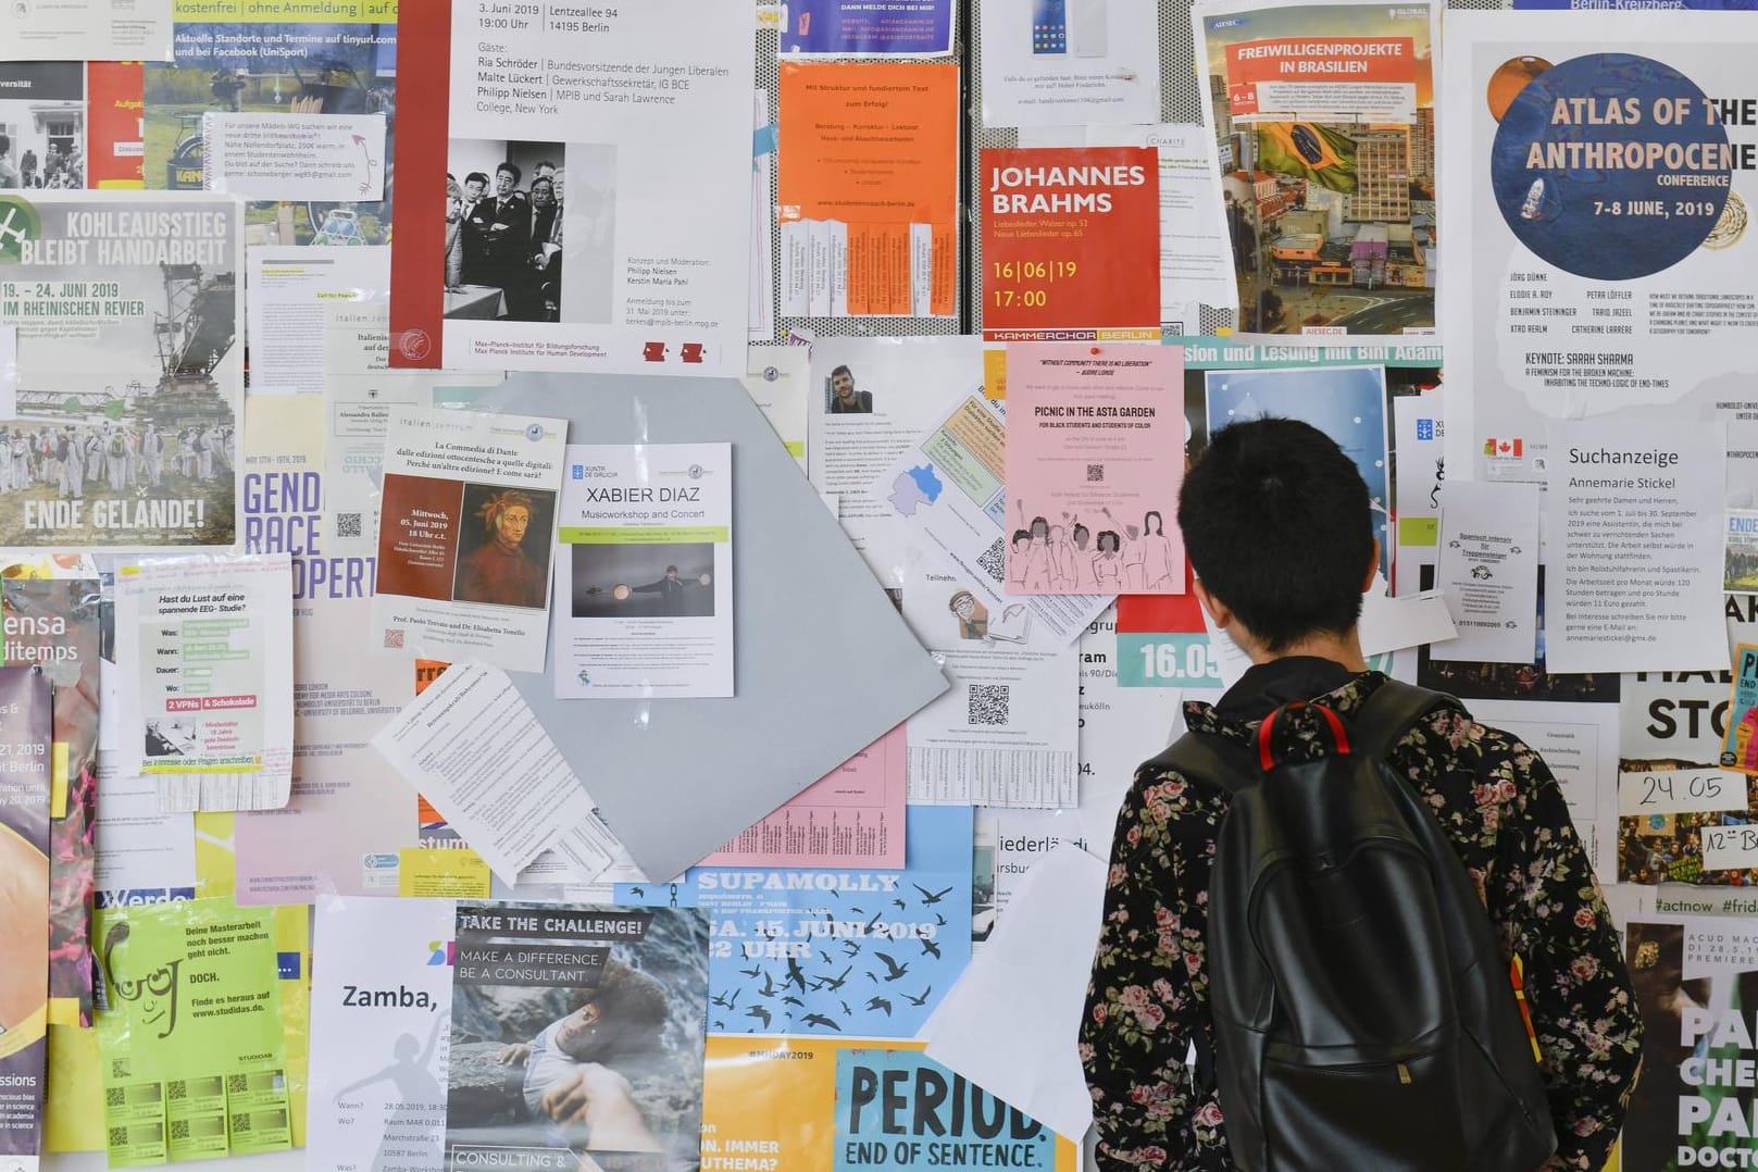
<path fill-rule="evenodd" d="M 1264 717 L 1317 701 L 1280 712 L 1264 750 L 1278 761 L 1340 752 L 1326 708 L 1348 724 L 1387 685 L 1368 671 L 1355 631 L 1378 543 L 1354 462 L 1301 422 L 1234 423 L 1185 476 L 1178 525 L 1202 606 L 1252 659 L 1217 703 L 1185 705 L 1187 726 L 1257 754 Z M 1517 954 L 1524 965 L 1558 1140 L 1544 1168 L 1598 1172 L 1635 1082 L 1642 1024 L 1561 789 L 1536 752 L 1450 705 L 1419 717 L 1384 761 L 1440 822 L 1503 963 Z M 1102 1172 L 1236 1167 L 1213 1074 L 1199 1070 L 1217 1053 L 1210 889 L 1231 801 L 1225 787 L 1155 759 L 1118 814 L 1079 1038 Z M 1192 1049 L 1199 1061 L 1187 1065 Z M 1262 1128 L 1273 1144 L 1276 1118 Z M 1436 1149 L 1424 1167 L 1475 1165 Z"/>

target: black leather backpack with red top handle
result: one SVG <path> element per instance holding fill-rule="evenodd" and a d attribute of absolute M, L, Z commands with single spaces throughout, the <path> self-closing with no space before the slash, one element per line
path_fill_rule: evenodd
<path fill-rule="evenodd" d="M 1556 1132 L 1496 930 L 1385 752 L 1459 703 L 1389 680 L 1341 752 L 1271 759 L 1187 733 L 1155 759 L 1232 794 L 1210 877 L 1218 1095 L 1246 1172 L 1531 1172 Z"/>

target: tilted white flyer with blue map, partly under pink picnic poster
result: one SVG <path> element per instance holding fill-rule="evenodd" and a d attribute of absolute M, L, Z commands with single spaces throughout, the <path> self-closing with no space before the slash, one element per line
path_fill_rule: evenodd
<path fill-rule="evenodd" d="M 1007 404 L 981 390 L 965 392 L 911 441 L 872 496 L 930 564 L 969 580 L 976 603 L 997 622 L 1014 615 L 1013 641 L 1044 650 L 1067 647 L 1111 604 L 1111 596 L 1007 594 L 1006 448 Z"/>

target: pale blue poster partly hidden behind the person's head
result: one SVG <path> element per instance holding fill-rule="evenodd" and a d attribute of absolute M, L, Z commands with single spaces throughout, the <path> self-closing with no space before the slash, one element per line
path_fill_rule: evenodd
<path fill-rule="evenodd" d="M 1380 573 L 1391 582 L 1391 476 L 1385 467 L 1385 369 L 1369 365 L 1285 371 L 1208 371 L 1210 434 L 1227 423 L 1276 415 L 1331 436 L 1368 481 Z"/>

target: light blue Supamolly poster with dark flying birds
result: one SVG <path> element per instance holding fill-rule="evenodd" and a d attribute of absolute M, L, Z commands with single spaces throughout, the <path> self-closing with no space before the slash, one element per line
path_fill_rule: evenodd
<path fill-rule="evenodd" d="M 970 961 L 970 807 L 909 807 L 900 872 L 691 868 L 617 903 L 708 912 L 716 1033 L 914 1037 Z"/>

